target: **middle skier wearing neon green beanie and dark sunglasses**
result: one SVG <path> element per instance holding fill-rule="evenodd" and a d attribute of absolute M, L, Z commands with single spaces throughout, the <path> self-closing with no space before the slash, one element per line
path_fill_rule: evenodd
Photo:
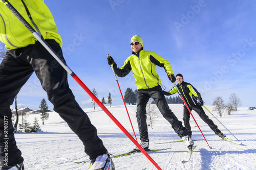
<path fill-rule="evenodd" d="M 115 73 L 118 77 L 125 77 L 132 70 L 138 88 L 137 93 L 137 122 L 140 132 L 140 145 L 145 150 L 149 147 L 149 139 L 146 124 L 146 104 L 150 98 L 156 102 L 158 109 L 164 118 L 172 125 L 172 128 L 183 139 L 186 147 L 192 147 L 194 142 L 188 137 L 187 129 L 182 126 L 172 110 L 169 109 L 161 88 L 161 80 L 156 72 L 156 66 L 164 67 L 167 72 L 168 79 L 175 82 L 173 69 L 170 63 L 158 54 L 145 51 L 143 40 L 139 35 L 135 35 L 131 39 L 132 55 L 124 61 L 122 67 L 117 67 L 114 59 L 108 57 L 108 64 L 113 65 Z M 138 148 L 135 147 L 135 150 Z"/>

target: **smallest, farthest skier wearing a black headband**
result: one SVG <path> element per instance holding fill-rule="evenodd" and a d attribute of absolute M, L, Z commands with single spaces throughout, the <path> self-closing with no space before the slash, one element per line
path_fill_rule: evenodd
<path fill-rule="evenodd" d="M 226 135 L 224 135 L 218 129 L 217 125 L 215 125 L 214 122 L 212 122 L 212 120 L 209 119 L 209 117 L 205 114 L 204 109 L 202 108 L 202 106 L 204 105 L 204 102 L 201 97 L 201 94 L 197 91 L 197 89 L 190 83 L 184 82 L 183 76 L 181 74 L 176 75 L 176 81 L 178 82 L 177 87 L 181 92 L 181 95 L 183 96 L 190 111 L 195 110 L 197 114 L 204 120 L 204 122 L 210 127 L 210 129 L 215 132 L 215 134 L 217 134 L 221 138 L 225 138 Z M 173 87 L 168 92 L 164 91 L 164 94 L 172 95 L 177 92 L 178 92 L 177 88 Z M 189 125 L 190 113 L 187 110 L 187 107 L 185 105 L 183 110 L 184 110 L 183 111 L 184 125 L 187 128 L 188 136 L 191 138 L 192 132 L 191 132 L 191 127 Z"/>

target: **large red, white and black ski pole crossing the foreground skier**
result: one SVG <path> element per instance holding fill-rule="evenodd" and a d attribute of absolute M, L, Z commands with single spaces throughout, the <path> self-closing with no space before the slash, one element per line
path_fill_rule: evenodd
<path fill-rule="evenodd" d="M 110 113 L 108 109 L 96 98 L 92 91 L 75 75 L 75 73 L 67 66 L 67 64 L 58 56 L 51 46 L 42 38 L 22 15 L 7 1 L 2 2 L 12 11 L 12 13 L 24 24 L 24 26 L 35 36 L 35 38 L 46 48 L 46 50 L 58 61 L 58 63 L 76 80 L 76 82 L 91 96 L 97 105 L 113 120 L 113 122 L 123 131 L 123 133 L 138 147 L 138 149 L 157 167 L 160 166 L 151 158 L 150 155 L 141 147 L 141 145 L 132 137 L 132 135 L 118 122 L 118 120 Z"/>

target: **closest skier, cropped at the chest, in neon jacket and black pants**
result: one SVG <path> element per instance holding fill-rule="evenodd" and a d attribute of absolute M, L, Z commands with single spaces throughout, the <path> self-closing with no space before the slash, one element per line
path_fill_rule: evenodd
<path fill-rule="evenodd" d="M 61 52 L 61 37 L 44 1 L 9 2 L 65 61 Z M 0 169 L 24 169 L 24 158 L 14 139 L 10 105 L 33 72 L 47 92 L 54 111 L 59 113 L 83 142 L 84 151 L 91 159 L 90 169 L 115 169 L 108 151 L 97 136 L 96 128 L 75 101 L 65 69 L 57 64 L 2 1 L 0 33 L 0 40 L 9 50 L 0 64 Z"/>

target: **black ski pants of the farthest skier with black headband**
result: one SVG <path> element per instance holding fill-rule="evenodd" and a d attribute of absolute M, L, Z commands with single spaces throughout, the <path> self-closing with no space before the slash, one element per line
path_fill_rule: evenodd
<path fill-rule="evenodd" d="M 205 114 L 204 109 L 200 105 L 195 105 L 195 106 L 189 106 L 188 107 L 190 111 L 195 110 L 197 114 L 201 117 L 202 120 L 210 127 L 212 131 L 215 132 L 215 134 L 221 133 L 221 131 L 218 129 L 218 126 L 214 124 L 214 122 L 209 119 L 209 117 Z M 189 119 L 190 119 L 190 113 L 187 110 L 187 107 L 184 106 L 184 112 L 183 112 L 183 120 L 184 120 L 184 125 L 187 128 L 188 134 L 192 134 L 191 132 L 191 127 L 189 124 Z"/>

